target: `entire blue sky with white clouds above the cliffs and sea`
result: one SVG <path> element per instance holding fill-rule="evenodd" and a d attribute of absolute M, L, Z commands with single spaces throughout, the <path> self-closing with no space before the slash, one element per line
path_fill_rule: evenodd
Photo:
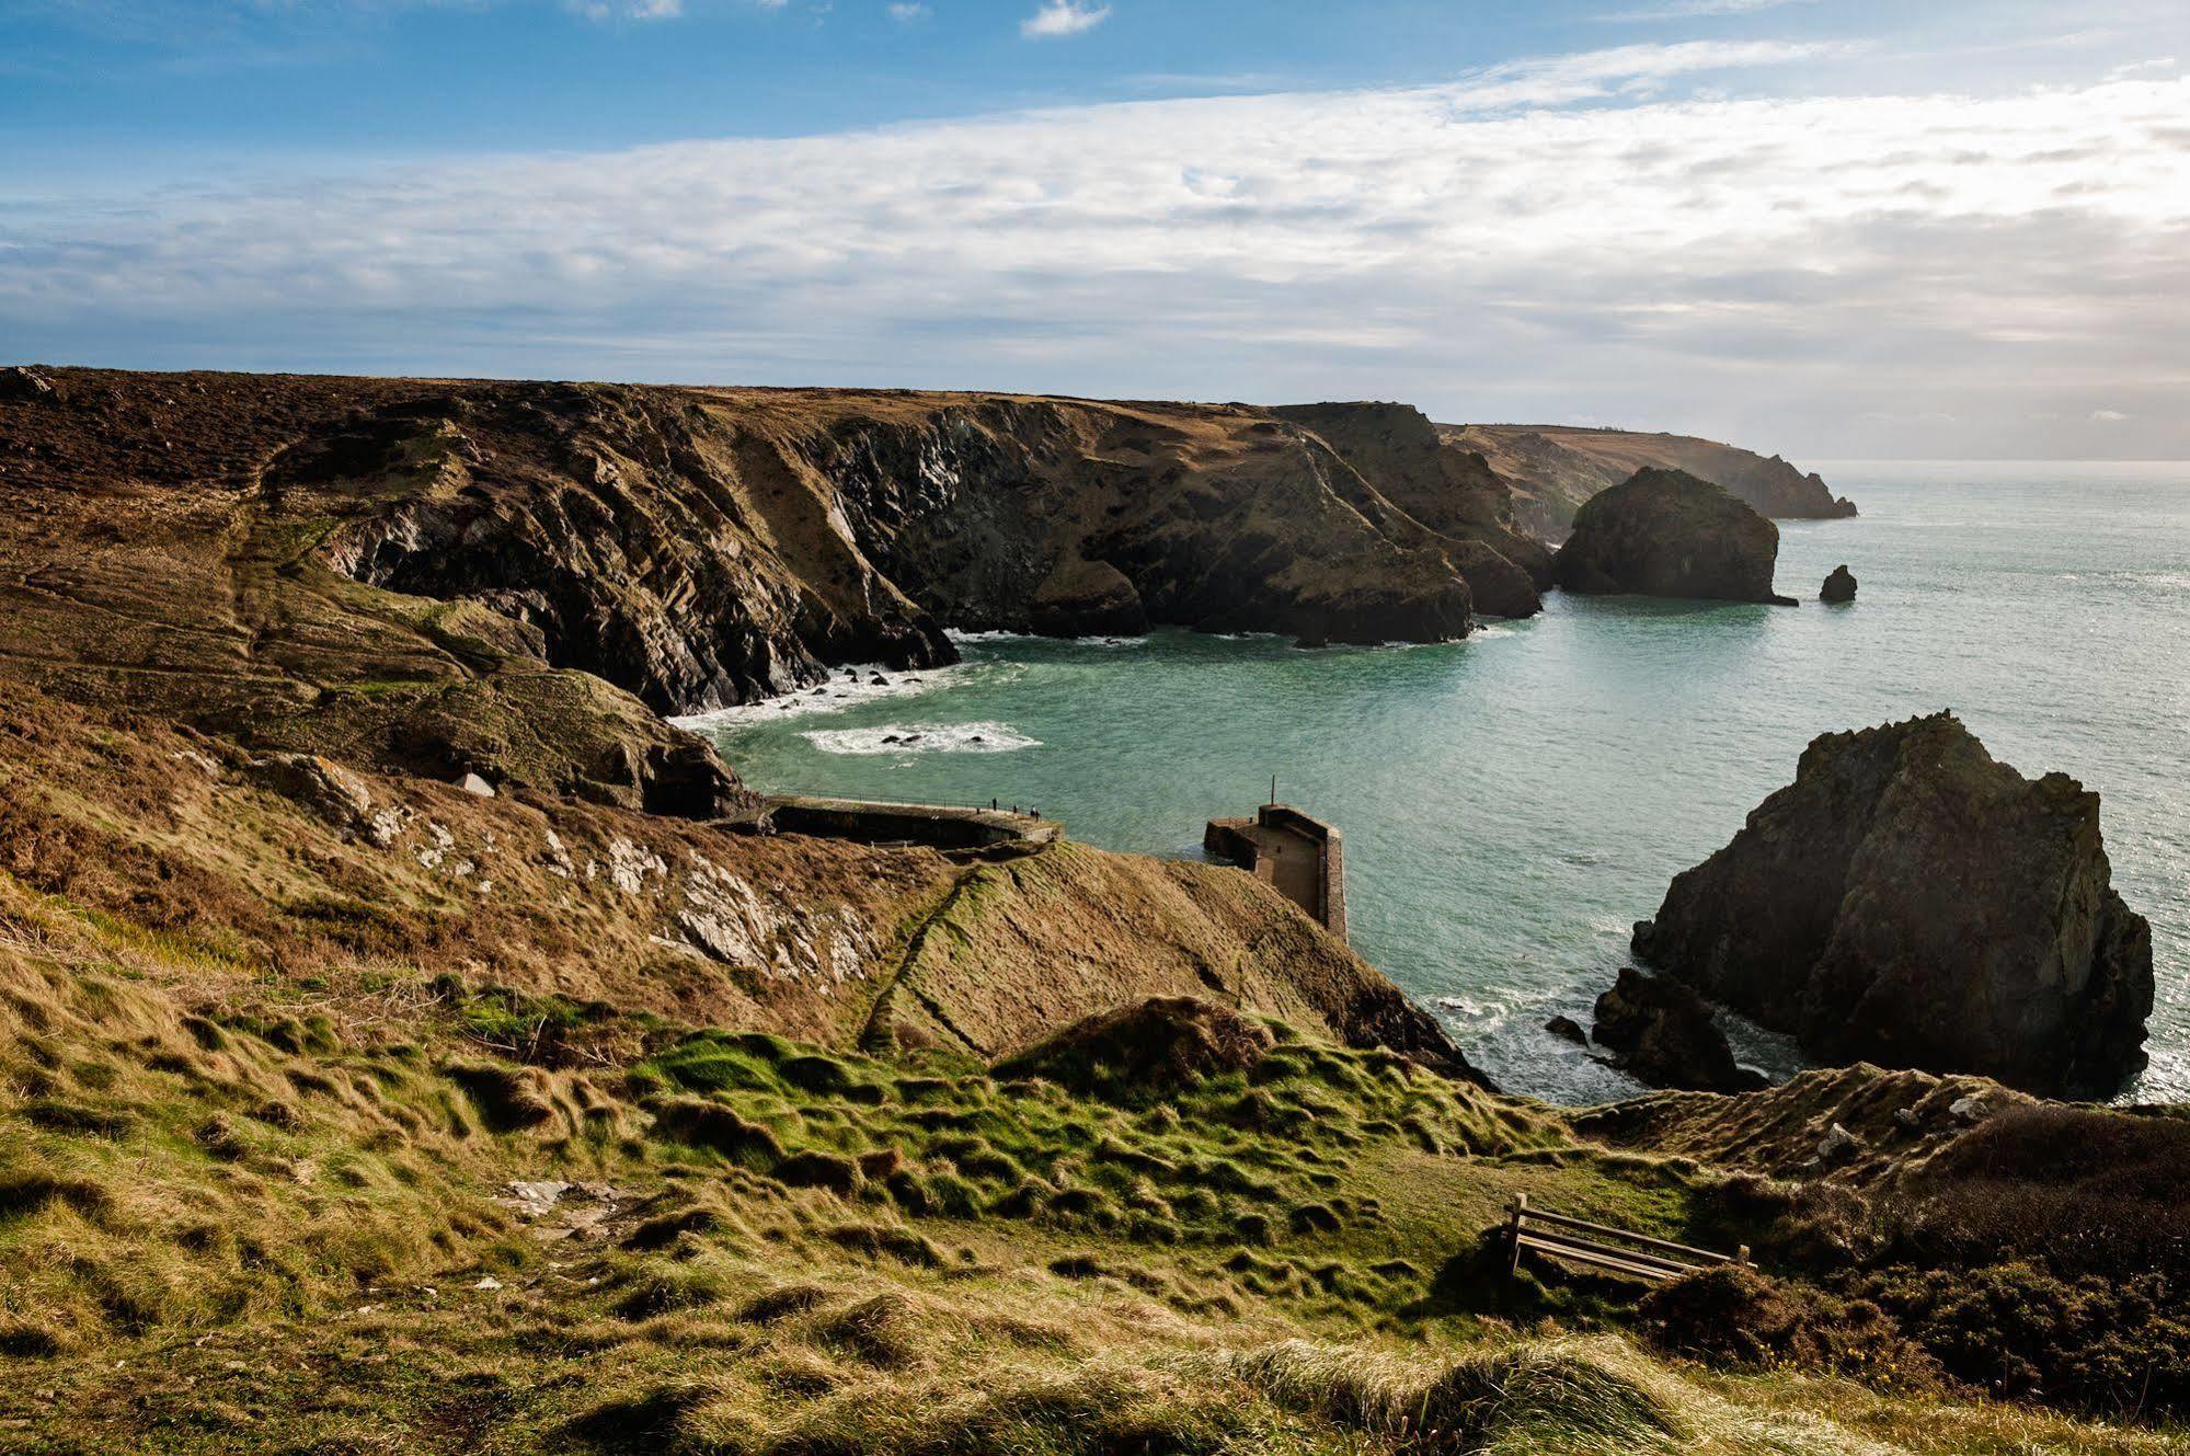
<path fill-rule="evenodd" d="M 0 361 L 2190 460 L 2190 4 L 0 0 Z"/>

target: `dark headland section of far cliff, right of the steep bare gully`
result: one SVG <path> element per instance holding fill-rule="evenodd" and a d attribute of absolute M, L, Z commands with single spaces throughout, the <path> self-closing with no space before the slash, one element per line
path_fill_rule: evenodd
<path fill-rule="evenodd" d="M 1472 626 L 1452 543 L 1321 436 L 1244 405 L 799 401 L 777 434 L 861 552 L 948 626 L 1121 624 L 1434 642 Z"/>

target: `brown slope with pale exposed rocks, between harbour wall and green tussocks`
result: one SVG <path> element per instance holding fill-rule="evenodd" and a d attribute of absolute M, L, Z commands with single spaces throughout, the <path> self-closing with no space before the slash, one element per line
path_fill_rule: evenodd
<path fill-rule="evenodd" d="M 539 790 L 252 753 L 88 709 L 0 659 L 0 880 L 83 915 L 353 983 L 442 974 L 826 1047 L 994 1060 L 1148 996 L 1200 996 L 1459 1071 L 1437 1025 L 1259 880 L 1062 843 L 1007 865 L 736 834 Z M 357 968 L 355 972 L 350 968 Z"/>

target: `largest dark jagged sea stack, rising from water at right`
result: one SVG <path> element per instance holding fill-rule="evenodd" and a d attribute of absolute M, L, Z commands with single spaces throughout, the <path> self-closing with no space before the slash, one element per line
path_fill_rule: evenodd
<path fill-rule="evenodd" d="M 1811 742 L 1634 946 L 1820 1060 L 2043 1095 L 2144 1064 L 2151 926 L 2113 891 L 2098 795 L 2026 779 L 1951 714 Z"/>

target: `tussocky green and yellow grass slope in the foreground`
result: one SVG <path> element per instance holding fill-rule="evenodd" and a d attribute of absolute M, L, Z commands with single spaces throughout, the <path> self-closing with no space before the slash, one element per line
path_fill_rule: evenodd
<path fill-rule="evenodd" d="M 228 970 L 0 882 L 0 1447 L 2168 1449 L 1572 1333 L 1616 1303 L 1507 1281 L 1502 1200 L 1693 1237 L 1710 1176 L 1382 1051 L 1110 1101 Z"/>

